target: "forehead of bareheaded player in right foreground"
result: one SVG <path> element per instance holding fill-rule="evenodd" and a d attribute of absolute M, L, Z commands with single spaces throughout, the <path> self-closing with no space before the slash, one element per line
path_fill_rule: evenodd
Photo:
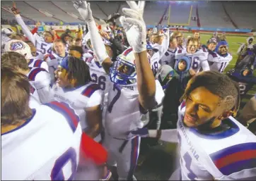
<path fill-rule="evenodd" d="M 220 98 L 218 95 L 211 93 L 206 87 L 197 87 L 190 92 L 189 97 L 196 103 L 208 106 L 211 109 L 219 106 Z"/>

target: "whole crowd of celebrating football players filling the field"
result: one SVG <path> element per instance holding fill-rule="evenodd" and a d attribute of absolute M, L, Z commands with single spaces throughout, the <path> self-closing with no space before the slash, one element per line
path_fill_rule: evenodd
<path fill-rule="evenodd" d="M 253 37 L 235 68 L 226 34 L 146 29 L 144 1 L 127 1 L 122 27 L 98 25 L 90 4 L 74 1 L 86 25 L 1 30 L 3 180 L 136 180 L 148 145 L 178 143 L 170 180 L 256 179 Z M 118 17 L 119 18 L 119 17 Z M 117 175 L 112 175 L 116 170 Z"/>

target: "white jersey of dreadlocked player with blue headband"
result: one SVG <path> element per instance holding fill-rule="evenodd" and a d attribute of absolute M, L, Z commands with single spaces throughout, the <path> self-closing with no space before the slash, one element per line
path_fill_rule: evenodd
<path fill-rule="evenodd" d="M 103 104 L 104 94 L 100 87 L 93 82 L 73 89 L 64 89 L 57 85 L 52 86 L 52 94 L 55 101 L 63 101 L 76 110 L 81 118 L 81 127 L 85 129 L 86 108 Z"/>

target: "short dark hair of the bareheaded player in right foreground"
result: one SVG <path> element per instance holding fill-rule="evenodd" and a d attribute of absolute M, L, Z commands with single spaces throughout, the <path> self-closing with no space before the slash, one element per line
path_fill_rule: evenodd
<path fill-rule="evenodd" d="M 180 101 L 187 99 L 190 93 L 198 88 L 205 87 L 212 94 L 219 96 L 220 103 L 225 104 L 228 111 L 238 111 L 240 106 L 240 88 L 237 82 L 231 80 L 227 75 L 216 71 L 204 71 L 193 76 L 187 83 L 185 93 Z"/>

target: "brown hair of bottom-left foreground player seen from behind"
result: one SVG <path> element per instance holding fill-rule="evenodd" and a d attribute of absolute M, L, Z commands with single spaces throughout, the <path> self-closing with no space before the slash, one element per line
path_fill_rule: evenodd
<path fill-rule="evenodd" d="M 15 125 L 32 116 L 28 78 L 11 67 L 1 66 L 1 125 Z"/>

